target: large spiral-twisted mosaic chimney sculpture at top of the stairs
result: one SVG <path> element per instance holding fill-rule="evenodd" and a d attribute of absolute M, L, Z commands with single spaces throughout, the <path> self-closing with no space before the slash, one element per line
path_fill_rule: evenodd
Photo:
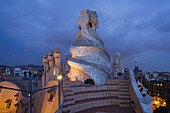
<path fill-rule="evenodd" d="M 96 34 L 96 12 L 84 10 L 80 14 L 78 25 L 81 31 L 76 34 L 70 47 L 72 58 L 67 61 L 71 67 L 68 77 L 82 82 L 92 80 L 95 84 L 104 84 L 110 77 L 110 57 L 103 41 Z"/>

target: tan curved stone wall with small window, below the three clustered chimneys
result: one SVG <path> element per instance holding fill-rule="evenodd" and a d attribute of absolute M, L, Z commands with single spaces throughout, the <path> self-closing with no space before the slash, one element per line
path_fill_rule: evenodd
<path fill-rule="evenodd" d="M 58 82 L 55 80 L 51 80 L 43 88 L 53 87 L 56 85 L 58 85 Z M 53 95 L 52 101 L 49 101 L 50 93 L 48 93 L 48 90 L 50 89 L 52 88 L 48 88 L 46 90 L 42 90 L 34 94 L 34 96 L 37 97 L 34 99 L 34 103 L 35 103 L 34 112 L 55 113 L 55 111 L 59 109 L 58 87 L 55 87 L 54 90 L 50 92 Z M 60 89 L 60 104 L 62 104 L 63 99 L 64 99 L 63 91 L 62 89 Z"/>

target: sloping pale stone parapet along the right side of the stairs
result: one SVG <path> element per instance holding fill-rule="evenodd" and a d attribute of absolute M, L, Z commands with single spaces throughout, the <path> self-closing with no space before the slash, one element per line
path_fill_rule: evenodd
<path fill-rule="evenodd" d="M 142 96 L 141 92 L 138 89 L 138 85 L 132 71 L 127 73 L 129 75 L 130 80 L 130 92 L 131 98 L 134 101 L 134 110 L 136 113 L 152 113 L 152 107 L 150 103 L 152 103 L 152 97 L 146 95 Z"/>

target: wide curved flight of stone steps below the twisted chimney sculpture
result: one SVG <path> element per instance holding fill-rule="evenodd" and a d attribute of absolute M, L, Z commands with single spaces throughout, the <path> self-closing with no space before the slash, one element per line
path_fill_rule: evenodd
<path fill-rule="evenodd" d="M 106 86 L 83 85 L 80 81 L 69 80 L 64 80 L 63 84 L 65 101 L 62 113 L 79 112 L 103 105 L 130 107 L 129 80 L 108 80 Z M 94 93 L 94 95 L 99 93 L 100 95 L 93 96 L 90 93 Z"/>

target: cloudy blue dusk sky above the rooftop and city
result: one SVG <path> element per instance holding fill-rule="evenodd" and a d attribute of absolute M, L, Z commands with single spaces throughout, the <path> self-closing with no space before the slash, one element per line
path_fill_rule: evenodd
<path fill-rule="evenodd" d="M 65 60 L 85 9 L 97 11 L 111 58 L 119 51 L 130 69 L 170 71 L 169 0 L 1 0 L 0 64 L 42 64 L 56 47 Z"/>

